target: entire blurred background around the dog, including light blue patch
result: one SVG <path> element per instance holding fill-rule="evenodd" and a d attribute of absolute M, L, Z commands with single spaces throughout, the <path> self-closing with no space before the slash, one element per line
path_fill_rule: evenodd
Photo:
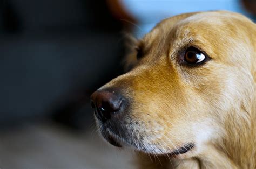
<path fill-rule="evenodd" d="M 99 137 L 90 95 L 124 73 L 124 32 L 255 0 L 0 0 L 0 168 L 134 168 Z"/>

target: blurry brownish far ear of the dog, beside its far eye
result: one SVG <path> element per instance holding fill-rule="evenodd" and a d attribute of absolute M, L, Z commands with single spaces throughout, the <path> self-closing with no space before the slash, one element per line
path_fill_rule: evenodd
<path fill-rule="evenodd" d="M 125 38 L 125 57 L 123 60 L 124 71 L 129 72 L 134 65 L 137 63 L 137 51 L 136 46 L 138 44 L 138 39 L 132 36 L 131 33 L 124 33 Z"/>

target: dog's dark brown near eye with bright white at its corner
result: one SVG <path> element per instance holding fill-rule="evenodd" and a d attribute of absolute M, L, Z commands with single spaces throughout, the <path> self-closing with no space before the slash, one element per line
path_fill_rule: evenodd
<path fill-rule="evenodd" d="M 184 61 L 188 64 L 198 64 L 205 60 L 205 55 L 195 47 L 190 47 L 186 50 Z"/>

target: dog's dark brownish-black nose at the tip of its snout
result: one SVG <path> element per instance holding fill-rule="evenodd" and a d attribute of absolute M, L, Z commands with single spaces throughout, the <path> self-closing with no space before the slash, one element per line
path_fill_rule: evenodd
<path fill-rule="evenodd" d="M 118 113 L 123 98 L 114 91 L 95 91 L 91 96 L 91 107 L 95 109 L 95 115 L 101 121 L 110 119 Z"/>

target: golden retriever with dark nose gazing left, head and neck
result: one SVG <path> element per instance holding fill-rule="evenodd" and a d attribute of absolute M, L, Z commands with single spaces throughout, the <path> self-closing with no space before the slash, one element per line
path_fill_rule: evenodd
<path fill-rule="evenodd" d="M 92 94 L 102 136 L 138 168 L 255 168 L 256 25 L 227 11 L 160 22 Z M 156 160 L 155 160 L 156 159 Z"/>

